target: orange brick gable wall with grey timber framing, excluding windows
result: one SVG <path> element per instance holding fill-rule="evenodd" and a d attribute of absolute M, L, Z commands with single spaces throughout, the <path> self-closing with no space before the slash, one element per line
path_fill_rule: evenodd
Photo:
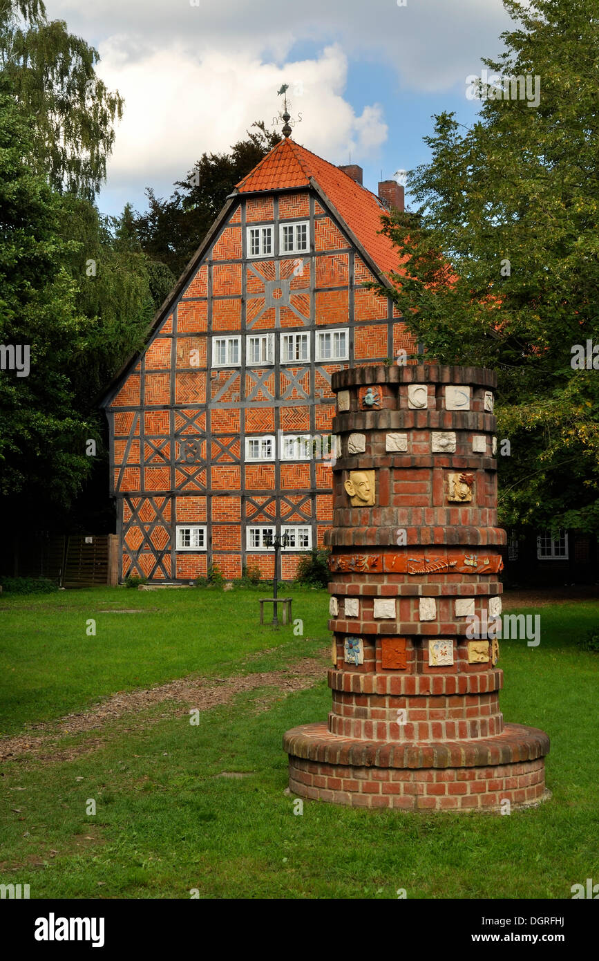
<path fill-rule="evenodd" d="M 309 251 L 279 255 L 280 223 L 298 219 L 309 221 Z M 272 256 L 248 257 L 250 225 L 274 225 Z M 209 563 L 226 578 L 246 564 L 271 577 L 272 551 L 247 546 L 257 525 L 307 526 L 313 545 L 323 544 L 330 468 L 319 459 L 251 462 L 246 437 L 329 434 L 332 374 L 413 350 L 392 302 L 363 286 L 374 279 L 311 191 L 240 196 L 108 404 L 123 577 L 187 581 Z M 317 333 L 331 328 L 347 330 L 347 360 L 316 359 Z M 275 335 L 275 363 L 247 365 L 247 338 L 260 333 Z M 280 362 L 281 333 L 307 333 L 310 359 Z M 241 338 L 240 363 L 215 368 L 213 338 L 228 335 Z M 177 548 L 177 527 L 192 524 L 205 525 L 205 551 Z M 283 578 L 293 579 L 301 553 L 283 554 Z"/>

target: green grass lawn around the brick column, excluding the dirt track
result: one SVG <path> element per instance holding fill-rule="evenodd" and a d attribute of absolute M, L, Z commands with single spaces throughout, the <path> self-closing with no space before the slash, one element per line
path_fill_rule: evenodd
<path fill-rule="evenodd" d="M 262 590 L 5 597 L 2 730 L 194 671 L 279 669 L 327 646 L 324 592 L 294 591 L 299 637 L 257 626 Z M 144 613 L 100 613 L 116 607 Z M 508 721 L 551 737 L 553 800 L 538 810 L 413 815 L 306 801 L 294 815 L 281 736 L 326 717 L 323 662 L 315 687 L 244 692 L 202 713 L 199 727 L 187 706 L 160 704 L 103 727 L 100 746 L 98 731 L 63 737 L 60 749 L 87 744 L 76 760 L 6 763 L 0 882 L 29 883 L 32 898 L 189 898 L 197 889 L 201 898 L 388 899 L 398 888 L 408 898 L 571 898 L 572 884 L 599 874 L 599 657 L 575 647 L 599 604 L 528 612 L 541 616 L 541 642 L 502 644 L 501 703 Z M 90 617 L 95 637 L 85 635 Z M 88 799 L 95 816 L 85 814 Z"/>

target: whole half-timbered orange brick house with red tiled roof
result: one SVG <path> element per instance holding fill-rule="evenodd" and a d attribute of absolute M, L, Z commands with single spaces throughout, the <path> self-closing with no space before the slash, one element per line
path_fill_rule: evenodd
<path fill-rule="evenodd" d="M 332 520 L 334 371 L 414 344 L 385 283 L 397 251 L 356 165 L 282 139 L 228 196 L 104 400 L 121 577 L 189 581 L 210 563 L 273 576 L 268 531 L 288 533 L 281 576 Z M 316 445 L 314 438 L 319 438 Z"/>

